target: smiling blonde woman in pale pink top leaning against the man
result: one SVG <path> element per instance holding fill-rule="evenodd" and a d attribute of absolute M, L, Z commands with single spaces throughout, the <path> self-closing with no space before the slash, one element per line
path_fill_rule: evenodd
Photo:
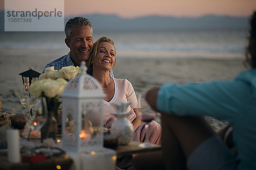
<path fill-rule="evenodd" d="M 103 100 L 103 124 L 106 128 L 111 128 L 112 123 L 116 120 L 112 113 L 116 113 L 113 104 L 129 102 L 126 112 L 130 113 L 127 117 L 134 127 L 134 141 L 143 142 L 145 140 L 146 128 L 145 124 L 140 125 L 140 118 L 137 116 L 137 98 L 134 88 L 127 79 L 116 79 L 109 76 L 109 71 L 116 63 L 116 48 L 111 38 L 101 37 L 93 45 L 93 52 L 91 53 L 86 64 L 88 73 L 96 78 L 102 90 L 106 94 Z M 90 115 L 93 125 L 99 125 L 99 120 L 96 116 Z M 161 127 L 152 121 L 148 123 L 147 136 L 151 144 L 160 144 Z M 125 158 L 118 158 L 116 166 L 127 169 L 131 166 L 131 156 Z"/>

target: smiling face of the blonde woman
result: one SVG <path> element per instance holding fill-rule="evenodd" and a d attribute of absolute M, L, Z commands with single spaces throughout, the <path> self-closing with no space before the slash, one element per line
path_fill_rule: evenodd
<path fill-rule="evenodd" d="M 116 53 L 113 45 L 109 42 L 102 42 L 99 45 L 95 61 L 93 62 L 93 70 L 111 70 L 115 65 L 115 57 Z"/>

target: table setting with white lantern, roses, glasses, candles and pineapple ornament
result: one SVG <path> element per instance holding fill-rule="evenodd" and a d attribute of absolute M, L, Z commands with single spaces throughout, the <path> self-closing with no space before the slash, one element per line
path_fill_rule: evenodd
<path fill-rule="evenodd" d="M 129 103 L 116 105 L 110 131 L 102 121 L 91 123 L 90 114 L 103 119 L 105 94 L 86 69 L 82 62 L 59 71 L 46 68 L 35 81 L 23 75 L 20 111 L 0 114 L 0 157 L 6 160 L 0 166 L 33 169 L 45 162 L 44 168 L 64 169 L 65 164 L 70 170 L 114 170 L 118 155 L 160 149 L 132 141 L 134 129 L 125 111 Z"/>

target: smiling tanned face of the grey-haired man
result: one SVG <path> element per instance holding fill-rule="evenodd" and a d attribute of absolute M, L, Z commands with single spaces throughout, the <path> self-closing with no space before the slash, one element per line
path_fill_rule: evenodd
<path fill-rule="evenodd" d="M 80 65 L 81 61 L 89 58 L 93 49 L 93 35 L 90 26 L 71 27 L 70 40 L 65 39 L 65 43 L 70 48 L 70 56 L 74 65 Z"/>

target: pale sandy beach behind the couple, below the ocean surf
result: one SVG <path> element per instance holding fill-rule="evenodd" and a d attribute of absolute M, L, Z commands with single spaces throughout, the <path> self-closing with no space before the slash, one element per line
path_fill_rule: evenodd
<path fill-rule="evenodd" d="M 1 112 L 17 112 L 22 84 L 19 73 L 32 68 L 41 73 L 44 66 L 68 51 L 0 50 L 0 100 Z M 229 80 L 245 68 L 241 59 L 159 59 L 116 57 L 113 73 L 116 78 L 128 79 L 135 92 L 145 93 L 163 83 L 203 82 Z M 159 119 L 157 119 L 159 122 Z M 209 119 L 213 127 L 223 122 Z"/>

